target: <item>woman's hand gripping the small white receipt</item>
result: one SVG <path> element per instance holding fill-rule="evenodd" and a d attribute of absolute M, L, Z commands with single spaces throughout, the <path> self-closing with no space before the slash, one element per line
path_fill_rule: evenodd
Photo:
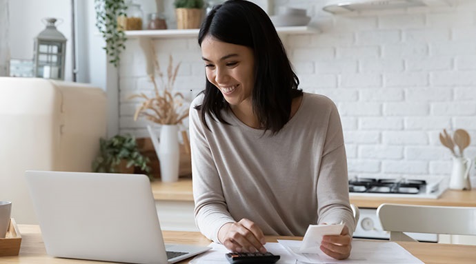
<path fill-rule="evenodd" d="M 335 259 L 346 259 L 350 256 L 352 249 L 352 237 L 346 225 L 339 236 L 323 236 L 321 243 L 322 252 Z"/>

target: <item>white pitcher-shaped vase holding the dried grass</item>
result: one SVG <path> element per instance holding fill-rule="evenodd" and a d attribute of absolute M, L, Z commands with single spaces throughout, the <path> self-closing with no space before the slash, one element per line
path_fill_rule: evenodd
<path fill-rule="evenodd" d="M 178 125 L 161 125 L 160 141 L 150 125 L 147 126 L 147 129 L 154 144 L 155 153 L 159 158 L 161 180 L 165 182 L 178 181 L 180 157 Z"/>

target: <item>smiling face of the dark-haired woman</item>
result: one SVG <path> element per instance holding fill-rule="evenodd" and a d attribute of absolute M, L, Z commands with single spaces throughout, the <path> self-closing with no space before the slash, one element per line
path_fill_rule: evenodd
<path fill-rule="evenodd" d="M 244 45 L 205 37 L 201 42 L 201 57 L 206 65 L 206 77 L 217 86 L 230 106 L 251 105 L 255 83 L 253 51 Z"/>

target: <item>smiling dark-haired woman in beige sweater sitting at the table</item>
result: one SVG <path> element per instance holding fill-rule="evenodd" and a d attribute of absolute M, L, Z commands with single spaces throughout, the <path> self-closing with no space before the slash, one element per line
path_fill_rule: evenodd
<path fill-rule="evenodd" d="M 321 250 L 348 258 L 355 220 L 330 99 L 304 93 L 266 12 L 230 0 L 199 32 L 206 88 L 190 108 L 195 219 L 228 250 L 266 252 L 264 235 L 340 223 Z"/>

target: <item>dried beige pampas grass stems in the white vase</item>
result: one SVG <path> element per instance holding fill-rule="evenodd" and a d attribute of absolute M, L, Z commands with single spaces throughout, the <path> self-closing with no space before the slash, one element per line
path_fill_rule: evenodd
<path fill-rule="evenodd" d="M 184 99 L 184 95 L 180 92 L 175 92 L 174 94 L 171 92 L 174 87 L 175 79 L 177 78 L 180 63 L 178 63 L 174 68 L 172 55 L 169 56 L 167 82 L 163 81 L 163 73 L 160 70 L 159 61 L 157 61 L 155 48 L 152 44 L 150 46 L 154 58 L 155 71 L 154 73 L 149 74 L 149 78 L 154 84 L 155 97 L 148 97 L 143 92 L 140 94 L 134 94 L 130 97 L 130 99 L 143 99 L 143 103 L 139 108 L 137 108 L 134 114 L 134 120 L 136 121 L 139 116 L 145 116 L 146 119 L 161 125 L 177 125 L 188 116 L 188 104 L 185 103 L 186 100 Z M 163 87 L 163 90 L 159 90 L 157 87 L 157 80 L 155 78 L 156 74 L 161 81 L 161 87 Z"/>

